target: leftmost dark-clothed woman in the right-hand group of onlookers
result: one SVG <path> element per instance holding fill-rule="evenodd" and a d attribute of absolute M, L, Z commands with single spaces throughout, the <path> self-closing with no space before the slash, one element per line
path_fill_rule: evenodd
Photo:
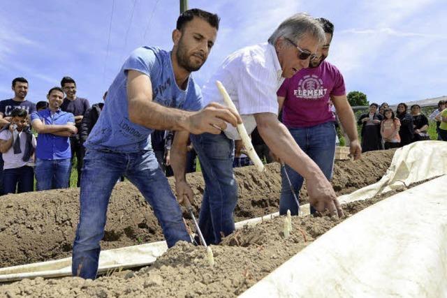
<path fill-rule="evenodd" d="M 382 115 L 377 113 L 379 105 L 369 105 L 369 112 L 362 114 L 358 119 L 358 125 L 362 125 L 362 152 L 381 149 L 380 123 Z"/>

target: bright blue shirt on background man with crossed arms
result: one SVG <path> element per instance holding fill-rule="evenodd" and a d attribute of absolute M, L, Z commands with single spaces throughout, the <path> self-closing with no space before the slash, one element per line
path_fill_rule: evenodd
<path fill-rule="evenodd" d="M 31 114 L 31 123 L 40 119 L 47 125 L 66 125 L 75 123 L 73 114 L 58 110 L 54 114 L 50 109 L 41 110 Z M 66 159 L 71 158 L 70 140 L 68 137 L 53 135 L 52 133 L 39 133 L 37 136 L 36 157 L 40 159 Z"/>

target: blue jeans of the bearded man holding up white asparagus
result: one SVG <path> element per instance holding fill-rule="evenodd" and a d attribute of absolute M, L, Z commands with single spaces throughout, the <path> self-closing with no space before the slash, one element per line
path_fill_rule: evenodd
<path fill-rule="evenodd" d="M 154 209 L 168 247 L 191 242 L 175 199 L 154 151 L 119 154 L 87 149 L 81 176 L 80 217 L 73 244 L 73 276 L 96 278 L 112 188 L 124 174 Z"/>

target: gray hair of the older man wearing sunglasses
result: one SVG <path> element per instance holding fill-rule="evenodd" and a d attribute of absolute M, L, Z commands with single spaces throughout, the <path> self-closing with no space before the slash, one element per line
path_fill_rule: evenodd
<path fill-rule="evenodd" d="M 304 36 L 315 38 L 318 43 L 325 42 L 325 33 L 318 20 L 307 13 L 297 13 L 288 17 L 268 38 L 268 43 L 274 45 L 279 38 L 288 38 L 294 43 Z"/>

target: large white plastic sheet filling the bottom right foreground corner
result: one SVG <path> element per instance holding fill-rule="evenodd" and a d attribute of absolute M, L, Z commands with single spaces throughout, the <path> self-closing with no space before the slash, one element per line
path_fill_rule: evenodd
<path fill-rule="evenodd" d="M 439 177 L 360 211 L 240 297 L 447 297 L 446 186 Z"/>

